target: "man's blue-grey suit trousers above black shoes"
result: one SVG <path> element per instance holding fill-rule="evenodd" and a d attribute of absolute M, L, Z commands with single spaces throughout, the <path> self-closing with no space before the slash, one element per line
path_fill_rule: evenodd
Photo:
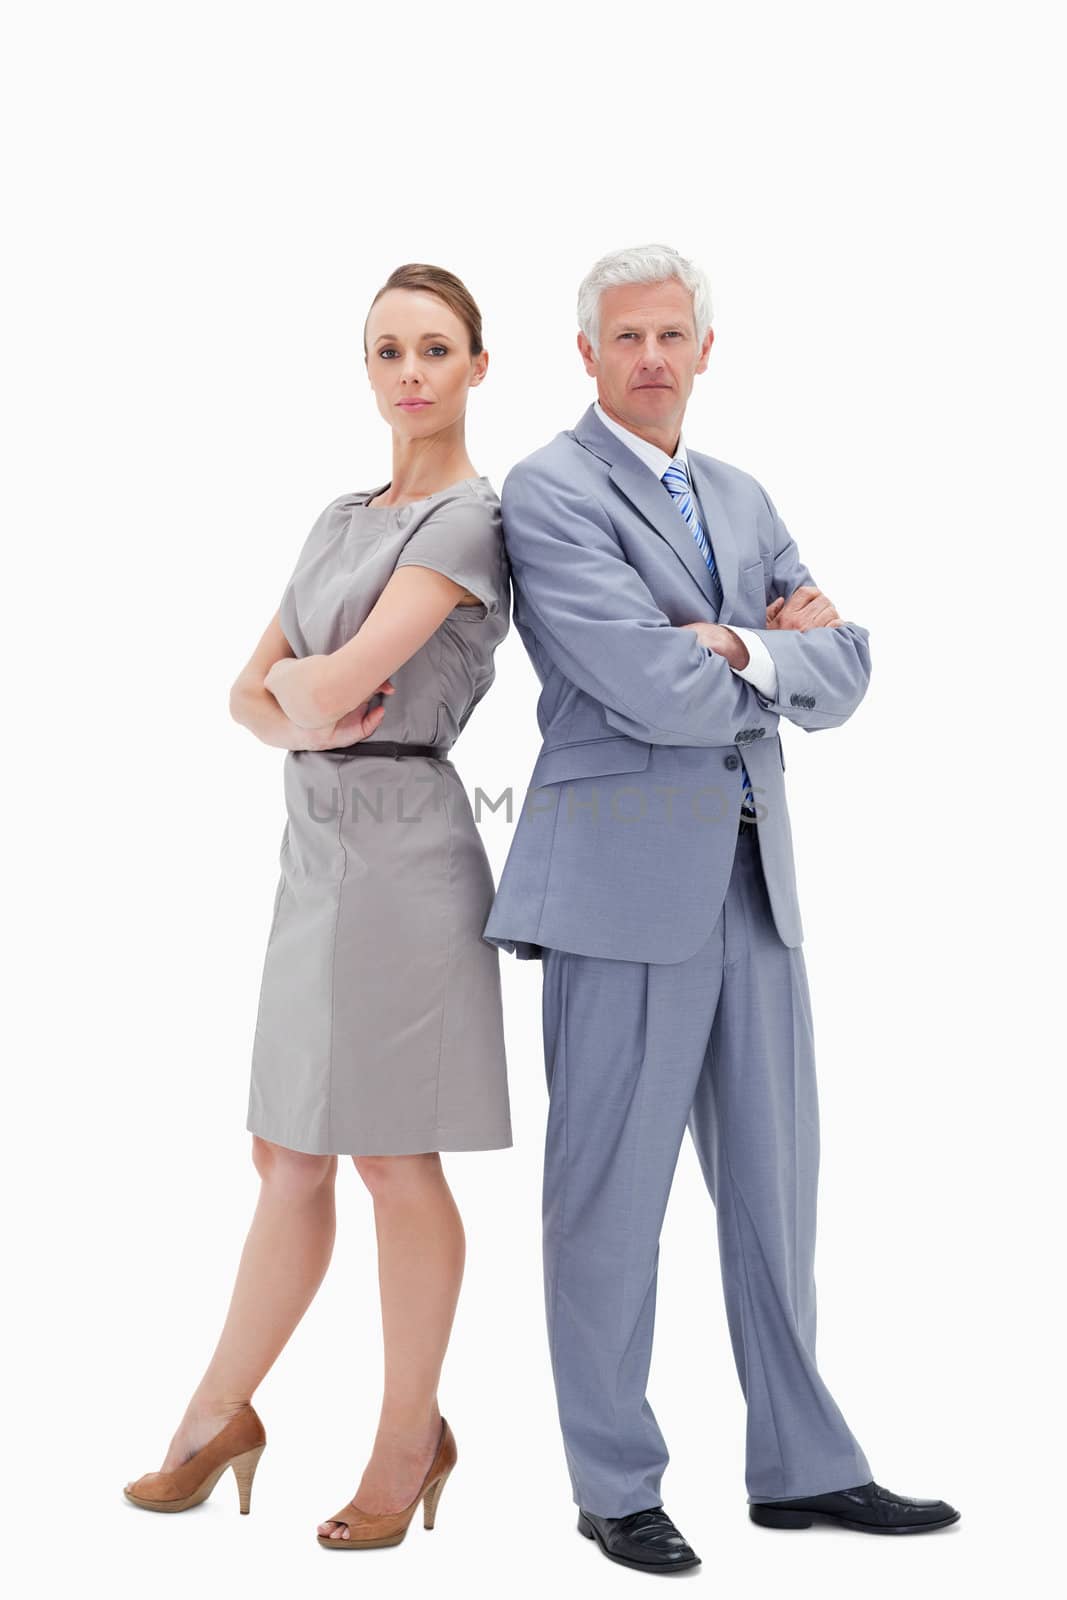
<path fill-rule="evenodd" d="M 870 1467 L 816 1368 L 819 1112 L 801 949 L 771 915 L 744 827 L 721 914 L 688 960 L 544 952 L 549 1347 L 574 1501 L 661 1502 L 645 1389 L 659 1232 L 688 1125 L 718 1224 L 747 1400 L 750 1499 L 822 1494 Z"/>

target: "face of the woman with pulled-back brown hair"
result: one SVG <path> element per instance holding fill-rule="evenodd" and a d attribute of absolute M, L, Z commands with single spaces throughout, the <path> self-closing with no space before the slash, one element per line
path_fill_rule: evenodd
<path fill-rule="evenodd" d="M 461 421 L 488 352 L 470 355 L 470 331 L 437 294 L 389 290 L 366 322 L 366 373 L 378 410 L 408 438 Z"/>

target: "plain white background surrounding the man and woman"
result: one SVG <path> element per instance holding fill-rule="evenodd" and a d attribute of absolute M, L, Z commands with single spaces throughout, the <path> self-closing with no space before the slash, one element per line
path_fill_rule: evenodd
<path fill-rule="evenodd" d="M 752 1526 L 713 1211 L 686 1141 L 649 1397 L 709 1594 L 1045 1592 L 1061 1515 L 1062 56 L 1040 5 L 16 6 L 5 27 L 11 998 L 5 1214 L 21 1592 L 621 1594 L 574 1531 L 539 1258 L 541 968 L 502 957 L 515 1147 L 446 1158 L 469 1264 L 438 1526 L 325 1560 L 381 1349 L 368 1195 L 258 1392 L 250 1517 L 158 1467 L 258 1179 L 243 1128 L 282 762 L 227 693 L 336 494 L 386 482 L 360 331 L 392 267 L 480 301 L 498 486 L 593 398 L 592 261 L 710 274 L 685 419 L 753 472 L 873 678 L 782 725 L 822 1094 L 821 1366 L 872 1461 L 961 1523 Z M 456 752 L 522 794 L 512 630 Z M 483 818 L 494 875 L 512 837 Z M 1061 1331 L 1062 1333 L 1062 1331 Z"/>

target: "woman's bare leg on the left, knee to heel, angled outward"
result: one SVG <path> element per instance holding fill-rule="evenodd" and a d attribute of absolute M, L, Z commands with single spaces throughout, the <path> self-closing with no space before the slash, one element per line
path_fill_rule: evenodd
<path fill-rule="evenodd" d="M 326 1275 L 336 1232 L 336 1155 L 306 1155 L 253 1134 L 262 1182 L 214 1355 L 160 1472 L 187 1461 L 251 1400 Z"/>

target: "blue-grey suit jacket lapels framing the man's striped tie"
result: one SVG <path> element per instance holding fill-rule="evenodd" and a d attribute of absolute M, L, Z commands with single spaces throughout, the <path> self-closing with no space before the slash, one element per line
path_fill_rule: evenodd
<path fill-rule="evenodd" d="M 701 555 L 699 546 L 685 517 L 678 510 L 669 490 L 648 470 L 640 456 L 635 456 L 621 438 L 603 426 L 592 406 L 573 429 L 574 438 L 585 450 L 606 461 L 611 469 L 611 482 L 645 522 L 670 546 L 689 578 L 701 590 L 704 603 L 715 611 L 718 595 L 707 562 Z M 691 450 L 686 450 L 689 461 L 689 478 L 697 499 L 701 523 L 707 533 L 715 565 L 723 584 L 723 605 L 718 611 L 720 621 L 729 613 L 731 602 L 737 594 L 737 554 L 729 536 L 729 525 L 723 502 L 715 491 L 709 474 L 701 467 Z M 709 520 L 710 518 L 710 525 Z"/>

